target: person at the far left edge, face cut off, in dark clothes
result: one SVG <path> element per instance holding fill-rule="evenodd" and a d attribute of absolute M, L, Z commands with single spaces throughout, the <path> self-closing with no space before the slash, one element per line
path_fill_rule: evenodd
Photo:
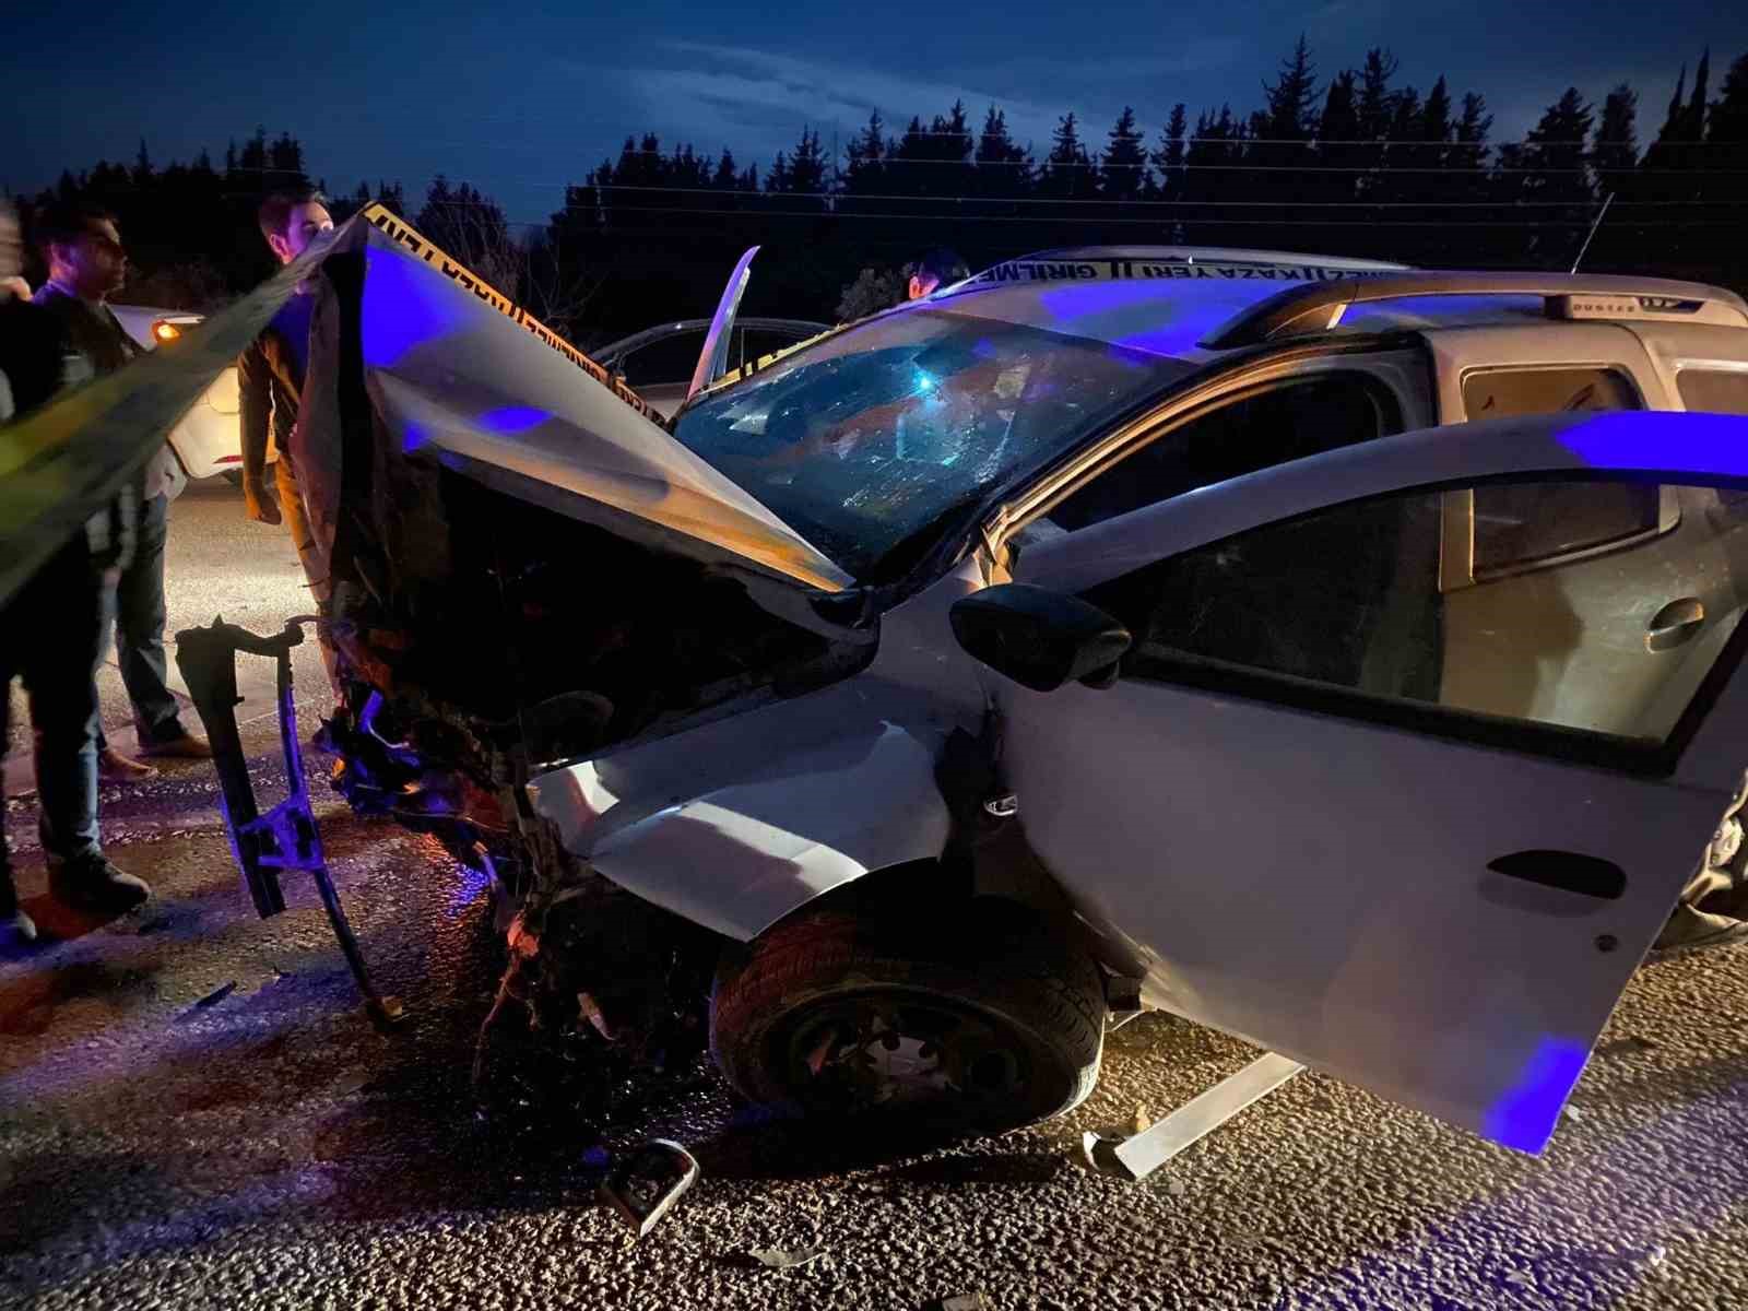
<path fill-rule="evenodd" d="M 12 290 L 17 218 L 0 201 L 0 423 L 45 402 L 61 385 L 68 348 L 59 325 Z M 150 888 L 122 874 L 98 843 L 96 669 L 103 636 L 103 572 L 129 547 L 133 498 L 101 510 L 0 608 L 0 757 L 10 725 L 10 683 L 24 678 L 37 738 L 37 799 L 49 883 L 61 900 L 122 912 Z M 0 944 L 31 942 L 37 926 L 17 904 L 0 797 Z"/>

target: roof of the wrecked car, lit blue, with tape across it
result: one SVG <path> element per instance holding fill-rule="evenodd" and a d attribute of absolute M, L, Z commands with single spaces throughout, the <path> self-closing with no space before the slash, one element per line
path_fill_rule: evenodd
<path fill-rule="evenodd" d="M 1370 299 L 1390 288 L 1388 297 Z M 1323 306 L 1325 292 L 1342 304 L 1330 322 L 1299 325 L 1295 336 L 1388 332 L 1430 327 L 1547 323 L 1554 299 L 1605 294 L 1645 301 L 1647 313 L 1680 306 L 1703 315 L 1739 318 L 1741 301 L 1696 283 L 1571 274 L 1421 273 L 1404 264 L 1335 255 L 1299 255 L 1225 246 L 1070 246 L 995 264 L 916 302 L 954 313 L 1063 332 L 1127 350 L 1204 365 L 1241 344 L 1285 330 L 1264 323 L 1276 306 Z M 1561 294 L 1566 294 L 1561 297 Z M 1655 302 L 1655 304 L 1652 304 Z M 1596 306 L 1589 306 L 1594 309 Z M 1292 313 L 1292 306 L 1287 311 Z M 1314 313 L 1311 315 L 1314 323 Z M 1634 309 L 1620 316 L 1640 316 Z M 1325 315 L 1327 316 L 1327 315 Z M 1580 315 L 1571 315 L 1580 316 Z M 1617 316 L 1615 306 L 1582 316 Z M 1262 323 L 1264 337 L 1241 341 L 1234 323 Z"/>

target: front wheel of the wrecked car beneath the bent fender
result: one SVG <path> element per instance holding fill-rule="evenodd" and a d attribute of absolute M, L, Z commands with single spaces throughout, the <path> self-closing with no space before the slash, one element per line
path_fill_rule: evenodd
<path fill-rule="evenodd" d="M 1086 1099 L 1103 1042 L 1098 967 L 1007 902 L 799 916 L 724 960 L 710 1007 L 729 1082 L 809 1115 L 1033 1124 Z"/>

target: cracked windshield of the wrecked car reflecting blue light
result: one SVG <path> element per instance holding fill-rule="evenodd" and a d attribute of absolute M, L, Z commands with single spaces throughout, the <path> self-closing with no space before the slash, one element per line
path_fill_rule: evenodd
<path fill-rule="evenodd" d="M 675 435 L 858 579 L 1182 374 L 940 309 L 886 315 L 687 411 Z"/>

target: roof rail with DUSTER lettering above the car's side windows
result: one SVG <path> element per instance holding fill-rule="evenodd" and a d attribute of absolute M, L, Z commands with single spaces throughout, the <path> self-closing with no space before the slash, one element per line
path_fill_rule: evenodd
<path fill-rule="evenodd" d="M 1328 332 L 1351 304 L 1421 295 L 1540 295 L 1549 318 L 1748 327 L 1748 304 L 1739 295 L 1697 281 L 1566 273 L 1400 273 L 1292 287 L 1234 315 L 1201 344 L 1236 350 Z"/>

